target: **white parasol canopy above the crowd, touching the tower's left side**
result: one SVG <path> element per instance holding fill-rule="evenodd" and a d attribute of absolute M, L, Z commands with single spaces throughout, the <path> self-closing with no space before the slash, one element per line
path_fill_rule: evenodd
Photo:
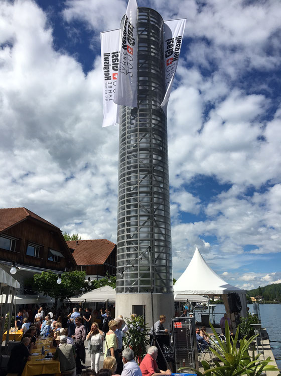
<path fill-rule="evenodd" d="M 104 303 L 106 300 L 109 302 L 115 302 L 116 292 L 115 289 L 110 286 L 103 286 L 95 288 L 94 290 L 85 292 L 80 296 L 73 296 L 65 299 L 64 302 L 71 303 Z"/>

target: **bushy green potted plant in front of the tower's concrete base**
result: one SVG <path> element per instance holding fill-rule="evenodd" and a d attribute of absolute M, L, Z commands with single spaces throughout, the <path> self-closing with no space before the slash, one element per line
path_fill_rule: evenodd
<path fill-rule="evenodd" d="M 149 345 L 149 329 L 145 323 L 143 316 L 133 316 L 125 318 L 128 326 L 124 338 L 124 347 L 129 347 L 134 353 L 135 361 L 141 363 L 147 353 L 147 346 Z"/>

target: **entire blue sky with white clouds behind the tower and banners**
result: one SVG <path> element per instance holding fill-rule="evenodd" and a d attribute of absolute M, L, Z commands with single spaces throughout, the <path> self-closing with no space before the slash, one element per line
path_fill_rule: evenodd
<path fill-rule="evenodd" d="M 239 287 L 281 282 L 279 0 L 138 0 L 187 17 L 168 106 L 174 277 L 195 247 Z M 100 32 L 124 0 L 0 4 L 0 207 L 116 242 L 118 128 Z"/>

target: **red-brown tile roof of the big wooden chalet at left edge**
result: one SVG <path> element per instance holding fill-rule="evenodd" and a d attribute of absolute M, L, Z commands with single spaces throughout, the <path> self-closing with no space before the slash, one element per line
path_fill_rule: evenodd
<path fill-rule="evenodd" d="M 21 222 L 22 220 L 32 217 L 41 222 L 47 223 L 54 227 L 56 230 L 59 230 L 54 224 L 48 222 L 46 219 L 35 214 L 31 210 L 26 209 L 25 207 L 10 207 L 5 209 L 0 209 L 0 232 L 3 232 L 15 224 Z"/>

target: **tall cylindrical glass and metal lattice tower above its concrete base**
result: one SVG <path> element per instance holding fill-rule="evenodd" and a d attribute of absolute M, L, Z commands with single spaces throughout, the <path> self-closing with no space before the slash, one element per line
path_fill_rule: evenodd
<path fill-rule="evenodd" d="M 173 292 L 164 22 L 138 8 L 138 107 L 120 106 L 116 292 Z M 140 255 L 142 255 L 140 257 Z"/>

